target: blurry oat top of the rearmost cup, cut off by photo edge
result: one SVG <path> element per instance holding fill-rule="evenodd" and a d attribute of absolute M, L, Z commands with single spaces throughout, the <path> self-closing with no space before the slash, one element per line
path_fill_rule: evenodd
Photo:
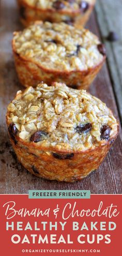
<path fill-rule="evenodd" d="M 95 4 L 95 0 L 24 0 L 23 2 L 25 2 L 29 6 L 40 9 L 66 10 L 70 12 L 74 10 L 79 10 L 81 6 L 84 6 L 86 8 L 86 5 L 88 4 Z"/>

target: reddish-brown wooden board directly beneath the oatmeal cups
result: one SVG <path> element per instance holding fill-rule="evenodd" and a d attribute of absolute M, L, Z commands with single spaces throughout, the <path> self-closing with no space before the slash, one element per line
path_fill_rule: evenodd
<path fill-rule="evenodd" d="M 1 1 L 0 17 L 0 193 L 28 193 L 28 189 L 90 189 L 91 193 L 98 194 L 121 193 L 121 129 L 114 146 L 111 148 L 99 170 L 91 173 L 81 182 L 67 184 L 36 178 L 29 174 L 17 161 L 16 155 L 14 155 L 9 143 L 5 120 L 8 103 L 13 99 L 19 89 L 23 89 L 19 84 L 14 69 L 11 50 L 12 32 L 21 28 L 16 1 Z M 88 27 L 91 31 L 99 35 L 95 13 L 93 13 Z M 94 84 L 91 85 L 90 92 L 103 100 L 118 117 L 113 87 L 106 65 L 100 71 Z"/>

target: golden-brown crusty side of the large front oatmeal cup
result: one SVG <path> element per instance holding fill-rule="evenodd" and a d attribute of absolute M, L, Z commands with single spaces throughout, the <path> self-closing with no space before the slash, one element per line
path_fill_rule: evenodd
<path fill-rule="evenodd" d="M 116 137 L 117 134 L 111 141 L 114 142 Z M 70 159 L 60 160 L 53 157 L 52 152 L 42 150 L 36 155 L 34 148 L 27 148 L 20 141 L 17 141 L 18 143 L 16 145 L 13 140 L 10 139 L 10 141 L 19 161 L 30 173 L 37 177 L 57 180 L 59 182 L 75 182 L 98 169 L 113 144 L 109 141 L 94 150 L 87 150 L 84 153 L 74 153 Z M 56 154 L 57 151 L 54 152 L 53 150 L 53 153 Z M 63 154 L 66 154 L 66 152 Z"/>

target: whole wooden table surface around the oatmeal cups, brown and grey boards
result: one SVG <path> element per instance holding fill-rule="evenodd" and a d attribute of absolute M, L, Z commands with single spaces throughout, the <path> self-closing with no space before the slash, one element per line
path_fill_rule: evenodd
<path fill-rule="evenodd" d="M 103 100 L 120 120 L 122 108 L 122 5 L 121 0 L 98 0 L 88 28 L 100 36 L 106 44 L 108 59 L 100 71 L 90 92 Z M 1 0 L 0 16 L 0 193 L 28 193 L 28 189 L 90 189 L 91 193 L 121 193 L 122 143 L 121 128 L 118 138 L 99 170 L 91 173 L 81 182 L 58 183 L 36 178 L 29 174 L 17 161 L 9 144 L 6 127 L 6 108 L 16 92 L 23 87 L 19 84 L 14 68 L 11 39 L 12 32 L 21 29 L 15 0 Z M 104 37 L 109 31 L 118 30 L 120 40 L 107 42 Z M 120 30 L 121 29 L 121 30 Z"/>

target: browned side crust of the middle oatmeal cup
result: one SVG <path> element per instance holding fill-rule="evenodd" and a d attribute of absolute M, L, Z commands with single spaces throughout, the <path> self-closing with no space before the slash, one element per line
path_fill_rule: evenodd
<path fill-rule="evenodd" d="M 41 81 L 49 85 L 51 85 L 52 82 L 57 81 L 66 83 L 70 87 L 88 89 L 89 85 L 94 81 L 102 68 L 106 58 L 106 56 L 104 56 L 101 63 L 88 70 L 70 72 L 62 70 L 55 71 L 48 70 L 40 64 L 35 63 L 33 60 L 28 61 L 25 57 L 20 56 L 16 52 L 14 40 L 12 41 L 12 49 L 19 80 L 25 87 L 36 87 Z"/>

